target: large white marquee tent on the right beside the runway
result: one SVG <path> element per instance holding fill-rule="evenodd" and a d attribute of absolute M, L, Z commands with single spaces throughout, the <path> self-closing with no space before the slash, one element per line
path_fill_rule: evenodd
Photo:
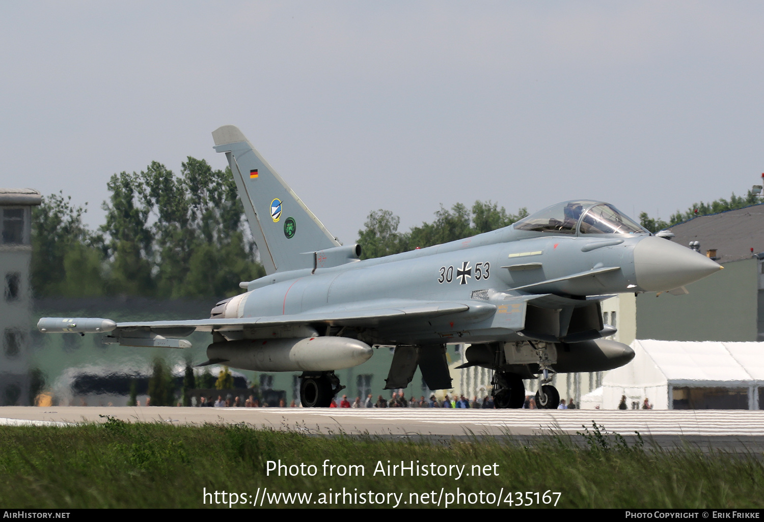
<path fill-rule="evenodd" d="M 764 343 L 635 340 L 634 360 L 607 373 L 603 409 L 759 409 Z M 761 404 L 764 407 L 764 404 Z"/>

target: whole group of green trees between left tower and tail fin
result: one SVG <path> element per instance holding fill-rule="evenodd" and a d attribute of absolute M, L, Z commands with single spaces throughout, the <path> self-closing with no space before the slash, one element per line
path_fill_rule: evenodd
<path fill-rule="evenodd" d="M 152 162 L 140 173 L 114 174 L 107 186 L 98 230 L 83 224 L 86 207 L 70 196 L 53 194 L 34 208 L 37 297 L 223 297 L 265 275 L 230 169 L 189 156 L 180 176 Z"/>

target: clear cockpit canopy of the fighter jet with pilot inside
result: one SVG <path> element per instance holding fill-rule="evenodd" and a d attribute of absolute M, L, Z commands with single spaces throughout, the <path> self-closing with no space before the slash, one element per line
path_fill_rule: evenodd
<path fill-rule="evenodd" d="M 649 234 L 613 205 L 584 199 L 552 205 L 513 226 L 552 234 Z"/>

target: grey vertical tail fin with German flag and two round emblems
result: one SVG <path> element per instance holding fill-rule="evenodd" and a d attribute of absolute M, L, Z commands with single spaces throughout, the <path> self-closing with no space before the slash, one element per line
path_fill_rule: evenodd
<path fill-rule="evenodd" d="M 215 151 L 224 152 L 244 204 L 265 272 L 313 266 L 311 255 L 340 243 L 319 221 L 241 130 L 224 125 L 212 132 Z"/>

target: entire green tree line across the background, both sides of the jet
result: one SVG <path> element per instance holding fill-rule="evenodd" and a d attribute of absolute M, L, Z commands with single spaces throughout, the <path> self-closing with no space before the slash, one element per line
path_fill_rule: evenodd
<path fill-rule="evenodd" d="M 241 292 L 238 283 L 265 275 L 244 219 L 231 171 L 212 169 L 189 156 L 176 175 L 152 162 L 141 172 L 114 174 L 102 204 L 105 224 L 89 230 L 87 207 L 63 193 L 33 209 L 31 279 L 37 297 L 134 295 L 159 299 L 222 298 Z M 650 231 L 698 215 L 756 205 L 759 198 L 694 204 L 669 222 L 639 214 Z M 371 211 L 358 230 L 363 259 L 389 256 L 507 227 L 528 215 L 507 213 L 493 201 L 471 207 L 442 205 L 435 219 L 400 231 L 400 217 Z"/>

